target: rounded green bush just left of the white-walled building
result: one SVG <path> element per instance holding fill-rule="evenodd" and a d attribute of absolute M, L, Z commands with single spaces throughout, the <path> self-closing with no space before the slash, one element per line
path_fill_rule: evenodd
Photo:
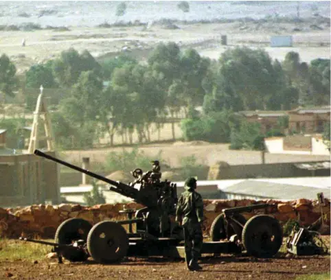
<path fill-rule="evenodd" d="M 264 147 L 264 135 L 260 132 L 260 124 L 242 121 L 240 128 L 231 131 L 232 150 L 262 150 Z"/>

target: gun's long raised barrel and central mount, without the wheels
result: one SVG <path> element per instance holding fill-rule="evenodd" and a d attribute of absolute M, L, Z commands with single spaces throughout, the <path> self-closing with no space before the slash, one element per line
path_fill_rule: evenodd
<path fill-rule="evenodd" d="M 56 159 L 54 156 L 45 154 L 40 150 L 35 150 L 34 154 L 102 180 L 111 185 L 109 187 L 110 191 L 115 191 L 117 194 L 131 198 L 140 205 L 144 205 L 145 208 L 135 212 L 135 218 L 139 219 L 136 221 L 138 231 L 146 230 L 148 234 L 155 237 L 173 237 L 173 235 L 178 237 L 178 224 L 170 220 L 170 215 L 174 215 L 176 212 L 176 184 L 168 180 L 161 181 L 161 176 L 155 176 L 154 172 L 150 171 L 144 174 L 141 169 L 137 168 L 132 172 L 137 179 L 130 185 L 127 185 Z M 131 217 L 132 215 L 130 214 L 129 218 Z"/>

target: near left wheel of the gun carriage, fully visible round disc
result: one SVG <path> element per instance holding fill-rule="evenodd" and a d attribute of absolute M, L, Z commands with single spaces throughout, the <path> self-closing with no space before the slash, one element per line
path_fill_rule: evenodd
<path fill-rule="evenodd" d="M 126 230 L 116 222 L 99 222 L 87 236 L 87 249 L 91 257 L 100 264 L 120 261 L 128 252 Z"/>

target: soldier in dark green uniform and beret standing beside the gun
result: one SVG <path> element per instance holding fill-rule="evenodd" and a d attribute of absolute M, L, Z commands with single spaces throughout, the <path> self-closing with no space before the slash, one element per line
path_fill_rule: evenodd
<path fill-rule="evenodd" d="M 185 191 L 179 198 L 176 221 L 183 225 L 185 242 L 185 261 L 189 270 L 201 270 L 198 265 L 203 245 L 203 199 L 196 191 L 196 178 L 185 180 Z"/>

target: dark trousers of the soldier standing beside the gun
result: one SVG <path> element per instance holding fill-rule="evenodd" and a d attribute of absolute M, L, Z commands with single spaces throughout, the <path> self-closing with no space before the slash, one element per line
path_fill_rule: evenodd
<path fill-rule="evenodd" d="M 190 259 L 198 260 L 203 246 L 201 224 L 198 222 L 187 222 L 183 224 L 183 230 L 185 237 L 185 259 L 188 262 L 190 262 Z"/>

